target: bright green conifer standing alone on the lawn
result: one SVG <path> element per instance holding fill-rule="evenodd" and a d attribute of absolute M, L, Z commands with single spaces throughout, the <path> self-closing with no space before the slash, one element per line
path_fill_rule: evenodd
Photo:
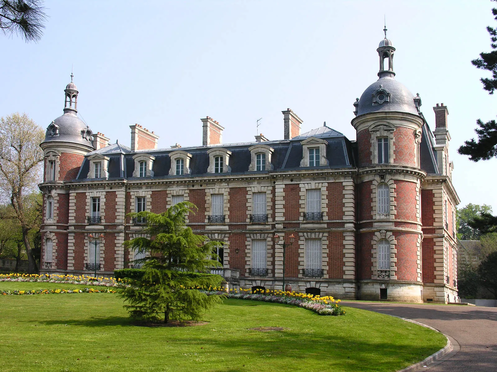
<path fill-rule="evenodd" d="M 195 235 L 185 226 L 186 213 L 193 213 L 190 202 L 175 204 L 162 214 L 131 213 L 131 217 L 146 221 L 142 236 L 126 241 L 125 247 L 151 256 L 134 262 L 143 263 L 142 278 L 130 279 L 120 296 L 134 318 L 155 321 L 193 319 L 221 302 L 218 296 L 207 296 L 197 286 L 219 286 L 219 275 L 199 274 L 208 267 L 219 266 L 213 249 L 221 242 L 208 242 L 207 237 Z M 150 238 L 149 238 L 150 237 Z"/>

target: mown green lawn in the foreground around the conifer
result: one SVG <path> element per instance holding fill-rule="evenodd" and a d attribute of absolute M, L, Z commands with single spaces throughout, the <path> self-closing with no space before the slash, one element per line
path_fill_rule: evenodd
<path fill-rule="evenodd" d="M 0 282 L 0 289 L 40 284 Z M 56 287 L 62 285 L 50 284 Z M 424 327 L 359 309 L 320 316 L 225 300 L 205 314 L 207 325 L 139 327 L 122 305 L 106 293 L 0 296 L 0 371 L 383 372 L 405 368 L 446 343 Z M 248 329 L 260 326 L 285 330 Z"/>

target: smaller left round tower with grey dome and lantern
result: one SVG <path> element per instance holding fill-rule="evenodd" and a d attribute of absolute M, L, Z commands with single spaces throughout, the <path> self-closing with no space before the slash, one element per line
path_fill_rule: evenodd
<path fill-rule="evenodd" d="M 41 270 L 67 269 L 67 230 L 69 223 L 69 190 L 65 182 L 76 179 L 84 155 L 95 148 L 90 128 L 76 116 L 78 88 L 73 82 L 67 84 L 64 115 L 47 127 L 45 140 L 40 144 L 44 153 L 43 222 L 41 226 Z"/>

